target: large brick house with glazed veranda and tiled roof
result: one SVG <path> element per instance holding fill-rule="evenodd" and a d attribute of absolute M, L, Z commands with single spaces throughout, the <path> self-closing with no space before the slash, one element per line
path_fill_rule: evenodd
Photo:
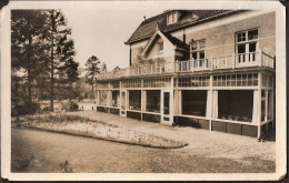
<path fill-rule="evenodd" d="M 262 138 L 275 129 L 275 11 L 165 11 L 126 42 L 130 68 L 98 75 L 97 110 Z"/>

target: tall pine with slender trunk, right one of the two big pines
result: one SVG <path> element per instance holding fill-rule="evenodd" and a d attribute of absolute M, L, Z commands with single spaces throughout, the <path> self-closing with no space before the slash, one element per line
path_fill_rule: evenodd
<path fill-rule="evenodd" d="M 72 82 L 78 79 L 78 63 L 73 60 L 74 43 L 69 38 L 71 29 L 68 28 L 64 14 L 61 10 L 50 10 L 47 14 L 50 17 L 50 103 L 53 111 L 56 82 L 59 89 L 64 83 L 71 87 Z"/>

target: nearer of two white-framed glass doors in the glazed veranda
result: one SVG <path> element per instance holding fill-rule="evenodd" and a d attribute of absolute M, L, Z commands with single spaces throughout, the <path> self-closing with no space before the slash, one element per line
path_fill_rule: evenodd
<path fill-rule="evenodd" d="M 171 123 L 172 121 L 172 92 L 171 91 L 161 91 L 161 122 L 166 123 L 169 122 Z"/>

